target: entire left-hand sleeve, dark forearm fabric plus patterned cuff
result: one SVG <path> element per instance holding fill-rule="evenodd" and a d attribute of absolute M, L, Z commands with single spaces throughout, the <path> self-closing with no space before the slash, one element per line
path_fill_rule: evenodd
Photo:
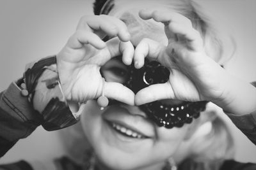
<path fill-rule="evenodd" d="M 53 131 L 78 120 L 79 113 L 70 111 L 61 91 L 56 57 L 29 64 L 23 78 L 0 93 L 0 157 L 38 125 Z"/>

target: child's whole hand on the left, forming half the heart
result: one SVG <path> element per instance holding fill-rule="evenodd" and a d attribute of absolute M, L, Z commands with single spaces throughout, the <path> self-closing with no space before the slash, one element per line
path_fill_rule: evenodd
<path fill-rule="evenodd" d="M 105 43 L 101 38 L 106 35 L 114 38 Z M 82 17 L 76 32 L 57 55 L 57 69 L 67 100 L 83 103 L 101 96 L 100 66 L 121 54 L 124 63 L 131 64 L 134 47 L 129 39 L 126 25 L 118 18 L 107 15 Z M 104 95 L 134 104 L 134 93 L 120 83 L 105 82 Z"/>

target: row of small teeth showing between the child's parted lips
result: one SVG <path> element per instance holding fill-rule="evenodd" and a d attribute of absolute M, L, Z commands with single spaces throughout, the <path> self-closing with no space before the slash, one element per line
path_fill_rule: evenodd
<path fill-rule="evenodd" d="M 135 138 L 135 139 L 147 139 L 148 136 L 145 136 L 141 134 L 140 132 L 133 131 L 132 129 L 129 129 L 127 127 L 124 127 L 123 125 L 116 124 L 114 122 L 109 122 L 108 124 L 119 134 L 122 134 L 123 136 L 126 136 L 128 138 Z"/>

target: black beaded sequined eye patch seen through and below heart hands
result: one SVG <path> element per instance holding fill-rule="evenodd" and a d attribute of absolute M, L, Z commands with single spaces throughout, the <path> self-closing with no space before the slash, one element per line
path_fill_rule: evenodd
<path fill-rule="evenodd" d="M 134 94 L 139 90 L 157 83 L 166 83 L 169 80 L 170 71 L 159 62 L 149 61 L 145 58 L 145 64 L 141 69 L 136 69 L 132 63 L 129 66 L 129 75 L 124 85 L 131 89 Z M 109 104 L 116 103 L 110 101 Z M 205 110 L 207 101 L 186 102 L 181 104 L 164 104 L 161 101 L 143 104 L 140 107 L 145 111 L 148 118 L 155 122 L 159 127 L 182 127 L 190 124 L 193 118 L 198 118 L 200 112 Z"/>

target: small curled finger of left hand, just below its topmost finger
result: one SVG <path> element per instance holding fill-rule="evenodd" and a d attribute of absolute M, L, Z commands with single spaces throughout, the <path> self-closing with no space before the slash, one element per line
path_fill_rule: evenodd
<path fill-rule="evenodd" d="M 81 48 L 83 45 L 90 44 L 95 48 L 102 49 L 106 46 L 106 43 L 102 41 L 96 34 L 89 31 L 76 31 L 67 42 L 67 46 L 70 48 Z"/>

